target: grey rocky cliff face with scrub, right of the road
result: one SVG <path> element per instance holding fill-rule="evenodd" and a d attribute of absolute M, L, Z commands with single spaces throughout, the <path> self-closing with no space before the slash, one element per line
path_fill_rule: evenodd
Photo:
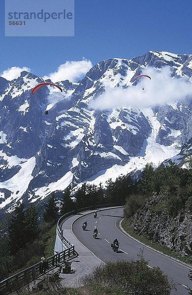
<path fill-rule="evenodd" d="M 161 194 L 149 198 L 146 205 L 131 218 L 134 231 L 181 255 L 192 256 L 192 214 L 180 212 L 171 217 L 165 208 L 156 212 L 150 209 L 163 200 Z"/>

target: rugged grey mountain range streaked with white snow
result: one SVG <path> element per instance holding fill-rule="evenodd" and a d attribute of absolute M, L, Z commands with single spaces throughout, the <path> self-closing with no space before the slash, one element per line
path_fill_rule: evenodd
<path fill-rule="evenodd" d="M 32 73 L 24 71 L 13 81 L 1 77 L 0 212 L 19 202 L 39 202 L 70 183 L 98 184 L 147 162 L 182 162 L 192 148 L 192 97 L 147 109 L 89 108 L 106 87 L 128 88 L 143 68 L 165 65 L 172 77 L 192 82 L 192 55 L 158 51 L 103 60 L 80 83 L 58 82 L 64 93 L 59 102 L 50 101 L 49 94 L 58 90 L 52 86 L 32 95 L 43 82 Z"/>

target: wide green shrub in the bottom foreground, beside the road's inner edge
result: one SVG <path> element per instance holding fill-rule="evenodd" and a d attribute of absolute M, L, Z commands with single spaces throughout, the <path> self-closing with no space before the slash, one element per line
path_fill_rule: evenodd
<path fill-rule="evenodd" d="M 174 289 L 159 267 L 149 268 L 147 261 L 143 259 L 108 262 L 106 265 L 96 266 L 92 273 L 85 275 L 80 281 L 84 286 L 95 284 L 104 288 L 116 288 L 122 294 L 170 295 Z"/>

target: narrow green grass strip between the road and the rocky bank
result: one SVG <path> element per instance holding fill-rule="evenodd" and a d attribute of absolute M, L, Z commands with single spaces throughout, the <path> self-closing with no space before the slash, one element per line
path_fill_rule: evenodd
<path fill-rule="evenodd" d="M 158 251 L 162 252 L 163 254 L 166 254 L 166 255 L 168 255 L 172 258 L 175 258 L 181 262 L 185 262 L 189 265 L 192 265 L 192 258 L 181 256 L 166 246 L 162 246 L 159 243 L 153 243 L 151 240 L 147 239 L 146 237 L 137 235 L 133 231 L 133 226 L 130 224 L 130 222 L 127 219 L 124 218 L 121 225 L 122 225 L 122 228 L 124 229 L 124 231 L 126 231 L 130 236 L 136 238 L 137 240 L 144 243 L 145 245 L 150 246 L 150 247 L 154 248 L 155 250 L 158 250 Z"/>

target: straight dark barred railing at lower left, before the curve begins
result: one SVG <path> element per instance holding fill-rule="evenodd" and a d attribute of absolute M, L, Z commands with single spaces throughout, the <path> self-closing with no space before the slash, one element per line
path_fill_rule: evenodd
<path fill-rule="evenodd" d="M 57 264 L 63 263 L 65 258 L 75 254 L 74 246 L 65 249 L 47 259 L 46 271 L 53 269 Z M 7 295 L 27 285 L 42 275 L 41 262 L 30 266 L 0 282 L 0 295 Z"/>

